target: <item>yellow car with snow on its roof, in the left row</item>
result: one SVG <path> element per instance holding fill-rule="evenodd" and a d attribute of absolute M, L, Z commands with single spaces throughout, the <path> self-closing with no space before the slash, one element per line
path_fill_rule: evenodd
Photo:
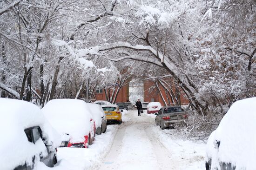
<path fill-rule="evenodd" d="M 101 105 L 101 107 L 105 112 L 107 122 L 122 123 L 122 113 L 119 110 L 118 105 Z"/>

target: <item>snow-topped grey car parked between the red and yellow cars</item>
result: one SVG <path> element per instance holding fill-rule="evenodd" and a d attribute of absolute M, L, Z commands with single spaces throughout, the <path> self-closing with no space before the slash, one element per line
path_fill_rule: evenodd
<path fill-rule="evenodd" d="M 87 103 L 88 107 L 91 110 L 91 114 L 95 121 L 96 125 L 96 134 L 100 135 L 101 133 L 105 133 L 107 130 L 107 118 L 105 112 L 101 108 L 101 105 Z"/>

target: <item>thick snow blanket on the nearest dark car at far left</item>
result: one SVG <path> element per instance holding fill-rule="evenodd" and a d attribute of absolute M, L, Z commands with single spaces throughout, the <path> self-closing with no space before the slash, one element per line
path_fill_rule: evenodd
<path fill-rule="evenodd" d="M 36 105 L 16 99 L 0 98 L 0 165 L 12 170 L 18 165 L 32 163 L 32 157 L 46 151 L 43 142 L 28 141 L 25 129 L 39 126 L 45 142 L 53 142 L 49 148 L 60 145 L 60 135 L 52 128 Z M 40 158 L 39 158 L 40 159 Z"/>

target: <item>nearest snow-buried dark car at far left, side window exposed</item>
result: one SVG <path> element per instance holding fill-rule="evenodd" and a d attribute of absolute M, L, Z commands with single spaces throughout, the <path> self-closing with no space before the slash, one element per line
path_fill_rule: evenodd
<path fill-rule="evenodd" d="M 53 167 L 60 135 L 36 105 L 0 98 L 0 169 L 32 170 L 39 162 Z"/>

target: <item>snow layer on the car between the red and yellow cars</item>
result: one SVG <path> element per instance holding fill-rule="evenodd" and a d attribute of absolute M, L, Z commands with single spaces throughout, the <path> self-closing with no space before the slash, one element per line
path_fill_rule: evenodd
<path fill-rule="evenodd" d="M 87 105 L 95 121 L 96 128 L 101 127 L 101 120 L 102 120 L 101 117 L 105 116 L 105 112 L 103 111 L 100 105 L 93 104 L 93 103 L 87 103 Z"/>

